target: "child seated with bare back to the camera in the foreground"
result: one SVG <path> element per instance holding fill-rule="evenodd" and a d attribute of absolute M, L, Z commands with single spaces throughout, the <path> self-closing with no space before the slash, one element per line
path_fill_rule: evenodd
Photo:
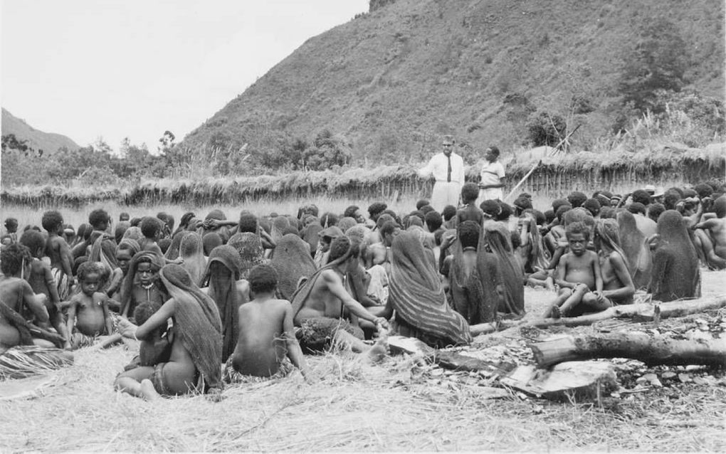
<path fill-rule="evenodd" d="M 293 328 L 290 301 L 275 299 L 277 273 L 268 265 L 250 271 L 254 299 L 239 309 L 240 334 L 234 353 L 227 360 L 224 380 L 241 381 L 245 376 L 285 376 L 290 372 L 285 355 L 307 376 L 307 365 Z"/>

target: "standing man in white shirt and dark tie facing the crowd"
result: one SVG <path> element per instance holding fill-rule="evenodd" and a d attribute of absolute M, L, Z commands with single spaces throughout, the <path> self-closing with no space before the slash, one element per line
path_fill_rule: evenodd
<path fill-rule="evenodd" d="M 461 187 L 464 185 L 464 160 L 454 153 L 454 137 L 444 136 L 442 153 L 434 155 L 428 164 L 418 171 L 421 177 L 433 175 L 436 184 L 431 192 L 431 206 L 441 212 L 444 206 L 459 206 Z"/>

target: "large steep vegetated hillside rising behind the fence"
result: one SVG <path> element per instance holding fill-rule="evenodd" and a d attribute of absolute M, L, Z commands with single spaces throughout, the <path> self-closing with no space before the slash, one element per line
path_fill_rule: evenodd
<path fill-rule="evenodd" d="M 706 115 L 722 115 L 720 0 L 397 0 L 371 9 L 310 38 L 181 146 L 295 155 L 295 141 L 299 150 L 325 129 L 353 163 L 373 165 L 418 161 L 446 133 L 465 155 L 489 144 L 510 153 L 582 125 L 571 143 L 592 149 L 634 115 L 662 110 L 664 93 L 720 104 Z M 537 134 L 538 123 L 556 134 Z"/>

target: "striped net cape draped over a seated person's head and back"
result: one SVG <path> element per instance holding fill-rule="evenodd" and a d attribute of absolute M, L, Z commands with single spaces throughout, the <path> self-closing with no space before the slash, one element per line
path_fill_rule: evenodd
<path fill-rule="evenodd" d="M 420 332 L 428 344 L 462 345 L 471 342 L 466 320 L 446 303 L 433 264 L 425 256 L 415 232 L 401 232 L 391 246 L 391 293 L 388 301 L 399 321 Z"/>

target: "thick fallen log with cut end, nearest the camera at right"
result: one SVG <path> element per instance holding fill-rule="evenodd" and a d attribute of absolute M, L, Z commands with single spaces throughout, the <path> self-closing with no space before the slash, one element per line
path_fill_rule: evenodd
<path fill-rule="evenodd" d="M 646 333 L 561 336 L 531 344 L 539 368 L 595 358 L 630 358 L 647 365 L 726 365 L 726 339 L 672 339 Z"/>

